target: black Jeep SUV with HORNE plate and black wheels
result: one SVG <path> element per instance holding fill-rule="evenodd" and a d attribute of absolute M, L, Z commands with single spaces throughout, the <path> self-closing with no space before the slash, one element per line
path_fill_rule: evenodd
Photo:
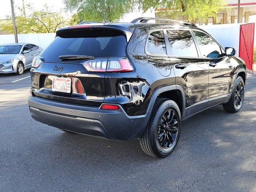
<path fill-rule="evenodd" d="M 178 143 L 182 120 L 218 104 L 241 109 L 246 65 L 234 54 L 194 24 L 175 20 L 61 28 L 33 60 L 28 105 L 36 121 L 139 139 L 146 154 L 162 158 Z"/>

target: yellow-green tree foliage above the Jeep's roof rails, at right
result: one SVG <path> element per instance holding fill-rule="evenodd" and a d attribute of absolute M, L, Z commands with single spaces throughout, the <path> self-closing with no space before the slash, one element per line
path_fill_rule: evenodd
<path fill-rule="evenodd" d="M 228 10 L 225 0 L 142 0 L 142 9 L 160 9 L 160 16 L 183 18 L 185 21 L 216 18 L 222 10 Z"/>

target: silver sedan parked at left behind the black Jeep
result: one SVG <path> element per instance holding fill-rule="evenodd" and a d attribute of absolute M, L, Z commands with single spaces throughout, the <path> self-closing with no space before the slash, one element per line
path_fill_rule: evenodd
<path fill-rule="evenodd" d="M 42 52 L 42 48 L 29 43 L 10 43 L 0 45 L 0 74 L 23 74 L 31 68 L 34 56 Z"/>

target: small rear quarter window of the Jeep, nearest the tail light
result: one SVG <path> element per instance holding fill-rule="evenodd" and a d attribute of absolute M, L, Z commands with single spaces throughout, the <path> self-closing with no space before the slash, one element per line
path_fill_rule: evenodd
<path fill-rule="evenodd" d="M 148 36 L 146 51 L 150 54 L 166 55 L 166 45 L 163 31 L 154 31 Z"/>

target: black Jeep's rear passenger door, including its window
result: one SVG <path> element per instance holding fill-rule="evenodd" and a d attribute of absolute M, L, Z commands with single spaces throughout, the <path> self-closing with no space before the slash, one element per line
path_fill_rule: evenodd
<path fill-rule="evenodd" d="M 182 86 L 186 98 L 186 117 L 204 110 L 208 103 L 209 66 L 200 57 L 189 29 L 166 30 L 170 44 L 170 61 L 176 84 Z"/>

